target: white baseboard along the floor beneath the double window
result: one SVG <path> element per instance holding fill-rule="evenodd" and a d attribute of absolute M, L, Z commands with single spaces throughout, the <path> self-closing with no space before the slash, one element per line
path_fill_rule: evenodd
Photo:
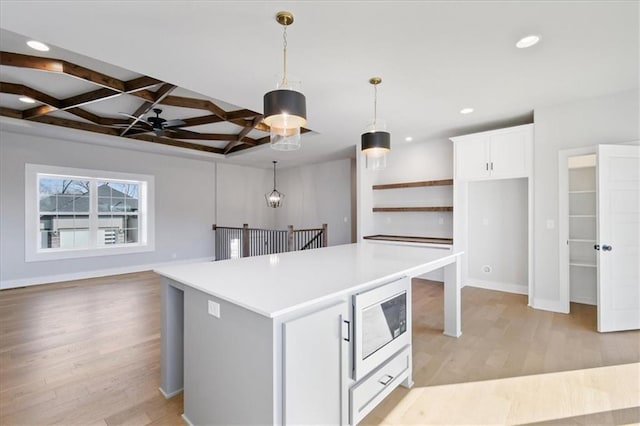
<path fill-rule="evenodd" d="M 149 263 L 146 265 L 121 266 L 117 268 L 99 269 L 95 271 L 71 272 L 68 274 L 45 275 L 41 277 L 20 278 L 17 280 L 0 281 L 0 290 L 6 290 L 17 287 L 28 287 L 40 284 L 52 284 L 61 281 L 83 280 L 87 278 L 99 278 L 109 275 L 129 274 L 132 272 L 150 271 L 167 265 L 176 265 L 180 263 L 196 263 L 209 262 L 214 260 L 211 257 L 201 257 L 198 259 L 173 260 L 170 262 Z"/>

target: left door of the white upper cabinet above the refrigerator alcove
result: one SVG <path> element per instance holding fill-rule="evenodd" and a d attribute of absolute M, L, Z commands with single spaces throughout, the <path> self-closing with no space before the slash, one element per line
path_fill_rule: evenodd
<path fill-rule="evenodd" d="M 488 136 L 475 136 L 456 140 L 456 178 L 475 180 L 489 177 Z"/>

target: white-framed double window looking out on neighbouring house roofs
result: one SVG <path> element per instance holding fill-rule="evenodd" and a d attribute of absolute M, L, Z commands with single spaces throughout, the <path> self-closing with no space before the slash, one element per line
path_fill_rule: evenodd
<path fill-rule="evenodd" d="M 27 164 L 27 261 L 152 251 L 153 176 Z"/>

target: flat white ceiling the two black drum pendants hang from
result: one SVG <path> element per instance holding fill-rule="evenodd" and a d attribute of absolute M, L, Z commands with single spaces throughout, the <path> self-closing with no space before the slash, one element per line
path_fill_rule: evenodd
<path fill-rule="evenodd" d="M 540 106 L 639 86 L 638 1 L 3 0 L 0 27 L 262 111 L 282 72 L 279 10 L 295 16 L 288 70 L 316 134 L 300 151 L 259 147 L 234 162 L 349 156 L 373 113 L 374 75 L 392 146 L 530 122 Z M 542 41 L 516 49 L 531 33 Z M 475 112 L 459 114 L 467 106 Z"/>

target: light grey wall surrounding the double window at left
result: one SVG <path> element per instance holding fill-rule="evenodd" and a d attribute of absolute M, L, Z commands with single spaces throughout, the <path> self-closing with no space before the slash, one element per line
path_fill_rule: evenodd
<path fill-rule="evenodd" d="M 90 140 L 92 135 L 87 134 Z M 155 177 L 155 251 L 25 262 L 25 163 Z M 213 258 L 215 164 L 0 131 L 0 287 L 149 269 Z"/>

